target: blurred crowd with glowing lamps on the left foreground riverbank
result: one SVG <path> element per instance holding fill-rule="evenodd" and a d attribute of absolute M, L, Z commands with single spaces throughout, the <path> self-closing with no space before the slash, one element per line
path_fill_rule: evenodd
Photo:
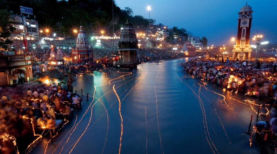
<path fill-rule="evenodd" d="M 36 127 L 54 127 L 56 113 L 70 113 L 69 104 L 82 101 L 78 94 L 69 91 L 68 82 L 49 80 L 49 85 L 30 82 L 0 87 L 0 134 L 12 135 L 18 141 L 26 138 L 31 141 L 33 129 L 37 132 Z M 14 145 L 3 145 L 6 147 L 2 149 L 12 153 Z"/>

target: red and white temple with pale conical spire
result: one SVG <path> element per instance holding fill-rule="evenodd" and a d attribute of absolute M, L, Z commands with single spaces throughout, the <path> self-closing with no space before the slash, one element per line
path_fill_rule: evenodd
<path fill-rule="evenodd" d="M 93 60 L 93 49 L 89 47 L 83 27 L 80 26 L 76 46 L 71 49 L 72 61 L 83 62 Z"/>

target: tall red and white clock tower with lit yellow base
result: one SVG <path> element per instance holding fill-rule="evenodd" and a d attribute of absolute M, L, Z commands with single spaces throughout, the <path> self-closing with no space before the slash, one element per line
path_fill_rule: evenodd
<path fill-rule="evenodd" d="M 234 46 L 233 59 L 250 59 L 251 58 L 251 46 L 250 41 L 250 28 L 252 22 L 252 7 L 250 5 L 243 6 L 239 11 L 238 19 L 238 36 L 236 40 L 236 45 Z"/>

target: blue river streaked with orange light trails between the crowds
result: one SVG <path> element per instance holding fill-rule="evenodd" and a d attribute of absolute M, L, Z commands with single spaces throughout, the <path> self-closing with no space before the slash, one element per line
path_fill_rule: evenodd
<path fill-rule="evenodd" d="M 180 66 L 191 59 L 144 63 L 130 73 L 112 70 L 112 74 L 94 72 L 78 77 L 73 86 L 88 93 L 89 101 L 84 95 L 81 111 L 74 112 L 54 144 L 44 137 L 33 151 L 260 153 L 255 144 L 250 147 L 247 130 L 251 115 L 253 122 L 257 115 L 255 104 L 264 102 L 243 101 L 253 98 L 210 83 L 203 86 Z M 260 112 L 267 110 L 262 107 Z M 259 116 L 259 120 L 263 118 Z"/>

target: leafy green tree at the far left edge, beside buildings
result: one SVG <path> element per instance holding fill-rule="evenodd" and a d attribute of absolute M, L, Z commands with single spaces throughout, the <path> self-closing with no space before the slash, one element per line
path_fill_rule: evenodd
<path fill-rule="evenodd" d="M 10 13 L 6 10 L 0 10 L 0 48 L 8 49 L 8 45 L 13 41 L 9 39 L 10 33 L 14 32 L 15 27 L 9 22 Z"/>

